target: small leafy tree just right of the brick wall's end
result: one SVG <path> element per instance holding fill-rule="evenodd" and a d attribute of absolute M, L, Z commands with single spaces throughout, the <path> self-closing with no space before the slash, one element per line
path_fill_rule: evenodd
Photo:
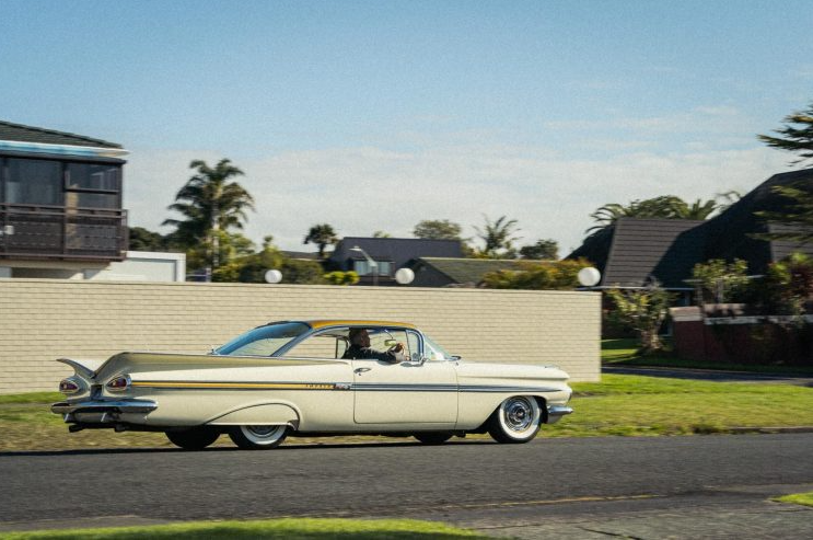
<path fill-rule="evenodd" d="M 641 289 L 609 289 L 607 298 L 615 306 L 613 317 L 638 334 L 639 352 L 652 354 L 663 349 L 659 330 L 669 313 L 671 295 L 657 283 Z"/>

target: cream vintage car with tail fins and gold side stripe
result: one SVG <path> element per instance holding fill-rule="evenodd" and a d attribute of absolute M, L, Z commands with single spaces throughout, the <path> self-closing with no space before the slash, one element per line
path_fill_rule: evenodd
<path fill-rule="evenodd" d="M 346 358 L 353 329 L 368 331 L 373 349 L 403 344 L 403 361 Z M 206 355 L 58 361 L 76 374 L 60 382 L 67 399 L 51 411 L 71 432 L 165 432 L 189 450 L 224 433 L 245 449 L 274 448 L 288 435 L 410 435 L 441 444 L 489 433 L 526 443 L 541 424 L 572 412 L 565 371 L 464 361 L 398 322 L 281 321 Z"/>

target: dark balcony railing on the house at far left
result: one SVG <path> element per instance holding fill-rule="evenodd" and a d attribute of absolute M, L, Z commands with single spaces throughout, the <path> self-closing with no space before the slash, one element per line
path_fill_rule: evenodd
<path fill-rule="evenodd" d="M 0 258 L 120 261 L 127 210 L 0 204 Z"/>

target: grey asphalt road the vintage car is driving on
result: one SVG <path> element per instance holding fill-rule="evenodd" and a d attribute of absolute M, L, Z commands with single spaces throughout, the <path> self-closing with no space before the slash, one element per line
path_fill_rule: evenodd
<path fill-rule="evenodd" d="M 680 508 L 693 515 L 753 515 L 753 505 L 767 504 L 768 496 L 813 490 L 811 449 L 813 434 L 542 437 L 516 446 L 441 447 L 297 446 L 289 439 L 270 451 L 7 452 L 0 453 L 0 532 L 187 519 L 397 516 L 545 538 L 545 524 L 559 524 L 562 532 L 585 516 L 601 525 L 632 513 L 641 525 L 644 516 L 658 522 Z M 782 522 L 792 521 L 788 515 L 779 516 Z M 802 516 L 797 529 L 813 535 L 813 510 L 795 515 Z M 719 519 L 709 515 L 712 524 Z M 576 536 L 593 530 L 580 527 Z M 788 538 L 798 537 L 797 529 L 788 529 Z"/>

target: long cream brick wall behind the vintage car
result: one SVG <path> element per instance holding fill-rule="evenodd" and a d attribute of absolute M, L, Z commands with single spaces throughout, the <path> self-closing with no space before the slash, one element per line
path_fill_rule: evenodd
<path fill-rule="evenodd" d="M 556 364 L 600 377 L 595 292 L 0 279 L 0 393 L 54 390 L 60 356 L 201 353 L 284 319 L 413 322 L 474 361 Z"/>

